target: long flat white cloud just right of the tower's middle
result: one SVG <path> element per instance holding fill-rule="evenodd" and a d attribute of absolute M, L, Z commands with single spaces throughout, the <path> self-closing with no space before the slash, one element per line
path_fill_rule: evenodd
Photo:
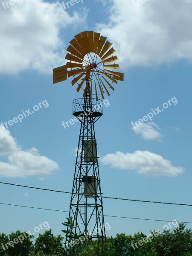
<path fill-rule="evenodd" d="M 148 176 L 177 176 L 184 169 L 180 166 L 172 166 L 171 161 L 150 151 L 135 151 L 126 153 L 117 151 L 114 154 L 107 154 L 101 158 L 105 165 L 113 168 L 138 170 L 138 173 Z"/>

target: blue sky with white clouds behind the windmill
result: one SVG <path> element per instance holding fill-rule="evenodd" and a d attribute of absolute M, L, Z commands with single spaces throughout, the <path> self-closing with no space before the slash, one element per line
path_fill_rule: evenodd
<path fill-rule="evenodd" d="M 192 0 L 66 3 L 0 2 L 0 181 L 71 192 L 80 122 L 62 122 L 83 96 L 71 78 L 53 84 L 52 69 L 66 64 L 75 35 L 95 31 L 113 43 L 124 73 L 95 124 L 103 195 L 192 204 Z M 69 211 L 70 195 L 0 184 L 0 203 L 1 233 L 37 237 L 48 223 L 62 235 L 67 212 L 5 204 Z M 192 222 L 189 206 L 103 204 L 105 215 L 129 217 L 105 217 L 107 236 Z"/>

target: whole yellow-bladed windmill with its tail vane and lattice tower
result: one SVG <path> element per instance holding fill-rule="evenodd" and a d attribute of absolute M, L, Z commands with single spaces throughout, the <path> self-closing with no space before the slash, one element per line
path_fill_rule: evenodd
<path fill-rule="evenodd" d="M 53 83 L 73 77 L 72 85 L 83 93 L 83 98 L 73 101 L 73 116 L 81 128 L 69 217 L 73 217 L 75 233 L 86 237 L 87 244 L 92 239 L 103 242 L 106 237 L 94 124 L 102 116 L 104 94 L 110 96 L 117 80 L 123 81 L 111 46 L 100 33 L 81 32 L 70 41 L 67 64 L 53 69 Z"/>

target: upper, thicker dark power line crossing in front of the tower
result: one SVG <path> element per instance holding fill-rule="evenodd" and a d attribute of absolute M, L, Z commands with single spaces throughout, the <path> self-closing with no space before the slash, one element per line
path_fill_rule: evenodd
<path fill-rule="evenodd" d="M 12 185 L 12 186 L 20 186 L 20 187 L 30 188 L 30 189 L 40 189 L 40 190 L 45 190 L 45 191 L 52 191 L 52 192 L 59 192 L 59 193 L 66 193 L 66 194 L 73 194 L 73 195 L 86 195 L 84 193 L 73 193 L 73 192 L 67 192 L 67 191 L 61 191 L 61 190 L 55 190 L 55 189 L 43 189 L 43 188 L 38 188 L 38 187 L 24 186 L 24 185 L 18 185 L 18 184 L 7 183 L 7 182 L 0 182 L 0 183 L 1 184 L 6 184 L 6 185 Z M 94 195 L 94 197 L 99 197 L 99 196 Z M 153 203 L 153 204 L 172 204 L 172 205 L 192 206 L 192 204 L 178 204 L 178 203 L 168 203 L 168 202 L 158 202 L 158 201 L 145 201 L 145 200 L 128 199 L 128 198 L 115 198 L 115 197 L 109 197 L 109 196 L 102 196 L 102 198 L 124 200 L 124 201 L 134 201 L 134 202 L 143 202 L 143 203 Z"/>

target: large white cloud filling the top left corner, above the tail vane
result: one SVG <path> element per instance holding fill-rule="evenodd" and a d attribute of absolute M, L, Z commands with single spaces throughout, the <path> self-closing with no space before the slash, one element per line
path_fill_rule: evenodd
<path fill-rule="evenodd" d="M 86 19 L 86 9 L 70 16 L 60 3 L 43 0 L 25 0 L 7 9 L 1 6 L 0 73 L 52 72 L 64 64 L 61 29 L 83 26 Z"/>

